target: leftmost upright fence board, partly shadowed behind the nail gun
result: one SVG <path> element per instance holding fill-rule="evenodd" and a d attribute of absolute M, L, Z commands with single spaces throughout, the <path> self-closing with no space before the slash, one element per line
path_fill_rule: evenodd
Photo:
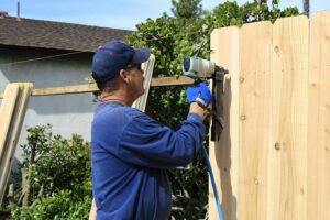
<path fill-rule="evenodd" d="M 211 61 L 229 70 L 226 80 L 224 129 L 220 141 L 209 146 L 218 191 L 222 201 L 223 218 L 237 219 L 238 147 L 239 147 L 239 35 L 237 26 L 218 29 L 211 34 Z M 218 219 L 215 195 L 209 184 L 209 216 Z"/>

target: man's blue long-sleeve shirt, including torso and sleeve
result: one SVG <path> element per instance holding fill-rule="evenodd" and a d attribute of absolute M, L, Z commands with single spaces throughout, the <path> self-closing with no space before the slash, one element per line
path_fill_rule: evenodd
<path fill-rule="evenodd" d="M 177 131 L 138 109 L 116 102 L 97 106 L 91 129 L 92 189 L 97 219 L 168 219 L 167 168 L 187 165 L 205 134 L 189 113 Z"/>

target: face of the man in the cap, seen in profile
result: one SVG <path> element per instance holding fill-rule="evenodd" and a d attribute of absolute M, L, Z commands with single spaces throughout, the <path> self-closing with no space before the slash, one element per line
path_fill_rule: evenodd
<path fill-rule="evenodd" d="M 144 76 L 143 76 L 143 69 L 140 65 L 132 65 L 127 69 L 129 72 L 129 76 L 131 78 L 130 81 L 130 91 L 136 97 L 136 99 L 144 94 Z"/>

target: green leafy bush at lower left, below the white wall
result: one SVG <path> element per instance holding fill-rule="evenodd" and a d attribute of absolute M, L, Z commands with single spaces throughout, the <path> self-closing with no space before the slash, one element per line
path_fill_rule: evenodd
<path fill-rule="evenodd" d="M 53 135 L 51 125 L 28 129 L 23 162 L 13 174 L 13 219 L 84 219 L 91 205 L 90 145 L 81 136 Z M 23 177 L 22 177 L 23 176 Z M 24 179 L 25 178 L 25 179 Z"/>

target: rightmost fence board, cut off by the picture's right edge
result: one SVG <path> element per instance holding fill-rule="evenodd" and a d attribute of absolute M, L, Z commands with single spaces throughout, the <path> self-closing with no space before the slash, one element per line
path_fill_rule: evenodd
<path fill-rule="evenodd" d="M 330 219 L 330 11 L 310 19 L 308 220 Z"/>

